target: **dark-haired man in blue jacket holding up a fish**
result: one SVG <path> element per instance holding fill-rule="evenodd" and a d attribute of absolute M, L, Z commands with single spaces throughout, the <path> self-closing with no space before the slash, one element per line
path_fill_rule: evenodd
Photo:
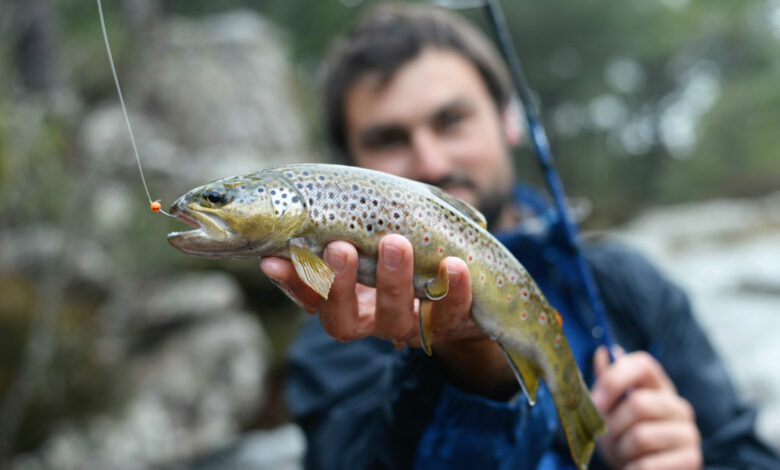
<path fill-rule="evenodd" d="M 615 247 L 586 254 L 614 333 L 631 352 L 610 364 L 596 350 L 598 331 L 554 224 L 522 230 L 529 205 L 513 197 L 510 158 L 521 131 L 506 70 L 485 38 L 444 11 L 376 8 L 335 47 L 325 88 L 337 150 L 478 207 L 561 311 L 609 429 L 592 468 L 780 468 L 684 295 Z M 327 301 L 289 262 L 262 261 L 275 283 L 319 313 L 293 346 L 288 387 L 309 439 L 307 467 L 573 468 L 549 394 L 541 387 L 529 407 L 501 350 L 470 320 L 471 280 L 457 258 L 445 260 L 448 295 L 431 306 L 433 358 L 420 351 L 413 257 L 405 238 L 385 236 L 372 289 L 356 283 L 354 246 L 331 243 L 324 258 L 337 274 Z"/>

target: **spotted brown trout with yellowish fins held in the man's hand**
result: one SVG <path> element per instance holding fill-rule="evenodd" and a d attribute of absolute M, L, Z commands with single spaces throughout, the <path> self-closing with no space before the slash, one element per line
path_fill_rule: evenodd
<path fill-rule="evenodd" d="M 405 236 L 414 248 L 415 295 L 431 300 L 447 294 L 441 260 L 461 258 L 472 279 L 472 318 L 501 345 L 532 405 L 539 378 L 544 380 L 572 457 L 579 468 L 587 467 L 605 425 L 569 350 L 561 317 L 470 205 L 434 186 L 385 173 L 308 164 L 200 186 L 180 197 L 170 213 L 196 227 L 168 235 L 179 250 L 218 258 L 288 258 L 326 299 L 334 272 L 320 255 L 334 240 L 355 245 L 358 279 L 373 286 L 380 238 Z M 422 317 L 420 336 L 430 354 Z"/>

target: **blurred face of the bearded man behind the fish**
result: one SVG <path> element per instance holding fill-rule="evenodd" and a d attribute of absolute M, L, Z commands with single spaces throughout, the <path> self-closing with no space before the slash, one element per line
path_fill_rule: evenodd
<path fill-rule="evenodd" d="M 504 121 L 476 67 L 428 48 L 387 82 L 358 79 L 345 99 L 347 144 L 361 167 L 442 187 L 494 218 L 513 169 Z"/>

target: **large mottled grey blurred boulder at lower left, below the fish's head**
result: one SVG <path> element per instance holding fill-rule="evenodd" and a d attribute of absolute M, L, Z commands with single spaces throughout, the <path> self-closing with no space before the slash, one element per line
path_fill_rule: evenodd
<path fill-rule="evenodd" d="M 128 361 L 122 409 L 67 422 L 22 469 L 148 469 L 235 440 L 263 398 L 268 342 L 257 321 L 223 312 Z"/>

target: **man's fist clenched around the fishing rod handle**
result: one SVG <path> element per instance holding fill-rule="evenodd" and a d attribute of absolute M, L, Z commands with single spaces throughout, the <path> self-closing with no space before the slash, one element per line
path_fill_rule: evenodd
<path fill-rule="evenodd" d="M 593 359 L 592 397 L 606 418 L 599 452 L 613 469 L 700 469 L 701 436 L 693 407 L 649 354 L 619 352 L 609 363 L 600 347 Z"/>

